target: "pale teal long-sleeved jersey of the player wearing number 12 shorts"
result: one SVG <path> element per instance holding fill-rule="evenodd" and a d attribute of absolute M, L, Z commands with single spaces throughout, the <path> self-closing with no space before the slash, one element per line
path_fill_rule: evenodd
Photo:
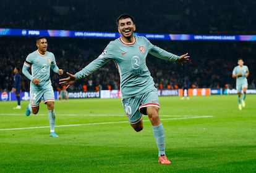
<path fill-rule="evenodd" d="M 28 70 L 31 68 L 31 74 Z M 50 68 L 58 73 L 58 66 L 56 65 L 55 57 L 52 52 L 46 51 L 45 55 L 41 55 L 38 50 L 35 50 L 31 54 L 28 54 L 22 68 L 22 73 L 30 79 L 33 78 L 40 79 L 40 83 L 37 85 L 38 88 L 46 87 L 51 85 L 50 79 Z M 33 82 L 31 82 L 32 86 L 35 86 Z"/>

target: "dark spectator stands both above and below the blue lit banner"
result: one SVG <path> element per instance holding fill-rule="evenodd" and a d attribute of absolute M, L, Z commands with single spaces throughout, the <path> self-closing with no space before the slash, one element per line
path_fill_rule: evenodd
<path fill-rule="evenodd" d="M 256 34 L 254 1 L 4 1 L 0 6 L 1 28 L 114 31 L 114 20 L 122 13 L 134 15 L 139 33 Z M 101 54 L 109 39 L 48 38 L 48 50 L 59 68 L 75 73 Z M 249 87 L 255 88 L 255 42 L 151 41 L 174 54 L 189 52 L 184 66 L 166 63 L 148 55 L 148 68 L 160 89 L 181 87 L 187 76 L 194 87 L 234 87 L 231 73 L 237 58 L 249 66 Z M 11 91 L 14 66 L 22 68 L 30 52 L 36 50 L 34 37 L 0 38 L 0 91 Z M 53 87 L 60 89 L 52 75 Z M 191 87 L 191 86 L 190 86 Z M 113 62 L 78 81 L 70 90 L 118 89 L 119 74 Z M 22 90 L 29 81 L 22 78 Z"/>

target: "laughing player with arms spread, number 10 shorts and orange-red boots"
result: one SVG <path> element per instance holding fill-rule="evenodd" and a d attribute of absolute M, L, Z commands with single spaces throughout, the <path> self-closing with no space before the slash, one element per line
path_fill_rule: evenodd
<path fill-rule="evenodd" d="M 120 15 L 117 20 L 120 38 L 109 42 L 102 54 L 75 74 L 67 73 L 68 77 L 60 79 L 60 84 L 69 87 L 75 81 L 85 78 L 105 63 L 113 60 L 116 63 L 121 79 L 122 105 L 126 111 L 130 125 L 136 132 L 142 131 L 142 115 L 147 115 L 153 126 L 153 134 L 158 146 L 158 162 L 171 164 L 165 155 L 165 137 L 163 124 L 160 121 L 158 92 L 146 65 L 147 54 L 163 60 L 183 63 L 189 55 L 177 56 L 154 46 L 143 36 L 134 36 L 136 26 L 134 18 L 127 14 Z"/>

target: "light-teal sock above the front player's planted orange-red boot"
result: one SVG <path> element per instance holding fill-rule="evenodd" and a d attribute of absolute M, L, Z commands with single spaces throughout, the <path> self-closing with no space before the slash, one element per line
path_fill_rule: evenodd
<path fill-rule="evenodd" d="M 158 147 L 158 156 L 165 155 L 165 137 L 163 124 L 153 126 L 153 133 Z"/>

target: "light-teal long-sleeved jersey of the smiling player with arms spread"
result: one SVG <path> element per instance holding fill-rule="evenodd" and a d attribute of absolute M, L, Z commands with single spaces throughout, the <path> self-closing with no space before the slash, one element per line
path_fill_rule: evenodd
<path fill-rule="evenodd" d="M 75 77 L 84 78 L 109 60 L 114 60 L 120 75 L 122 97 L 129 98 L 143 94 L 155 88 L 155 83 L 146 65 L 148 53 L 168 61 L 179 59 L 177 55 L 154 46 L 143 36 L 136 36 L 132 44 L 127 44 L 118 38 L 109 42 L 102 54 L 75 73 Z"/>

